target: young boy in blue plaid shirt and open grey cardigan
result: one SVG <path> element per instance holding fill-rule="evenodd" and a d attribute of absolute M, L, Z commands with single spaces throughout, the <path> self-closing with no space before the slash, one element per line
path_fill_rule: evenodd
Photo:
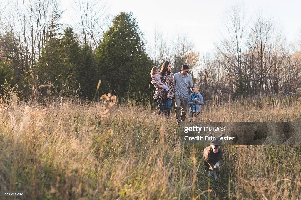
<path fill-rule="evenodd" d="M 188 105 L 190 106 L 189 108 L 189 119 L 192 122 L 192 117 L 194 115 L 194 119 L 196 120 L 201 112 L 201 105 L 204 103 L 203 102 L 203 96 L 201 93 L 199 93 L 200 90 L 200 85 L 195 84 L 193 86 L 193 93 L 189 95 L 188 98 Z"/>

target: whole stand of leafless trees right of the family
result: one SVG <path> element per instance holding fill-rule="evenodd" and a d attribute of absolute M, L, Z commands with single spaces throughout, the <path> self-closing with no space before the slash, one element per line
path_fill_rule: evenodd
<path fill-rule="evenodd" d="M 216 59 L 203 57 L 199 80 L 204 90 L 213 87 L 208 77 L 210 66 L 214 66 L 221 67 L 216 74 L 218 82 L 214 83 L 221 93 L 295 92 L 301 84 L 299 52 L 289 53 L 281 26 L 272 18 L 264 17 L 261 11 L 249 23 L 245 13 L 243 4 L 226 11 L 225 34 L 216 43 Z"/>

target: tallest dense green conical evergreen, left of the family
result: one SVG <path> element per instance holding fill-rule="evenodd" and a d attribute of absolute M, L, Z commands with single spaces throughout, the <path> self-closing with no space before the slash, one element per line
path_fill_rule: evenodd
<path fill-rule="evenodd" d="M 152 62 L 145 53 L 143 35 L 132 12 L 120 13 L 97 49 L 101 88 L 117 94 L 145 90 Z"/>

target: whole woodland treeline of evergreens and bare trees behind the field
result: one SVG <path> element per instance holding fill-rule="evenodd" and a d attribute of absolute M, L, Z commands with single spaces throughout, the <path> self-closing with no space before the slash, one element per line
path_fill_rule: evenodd
<path fill-rule="evenodd" d="M 288 45 L 281 26 L 262 12 L 246 17 L 243 5 L 226 10 L 215 51 L 200 54 L 185 33 L 167 37 L 155 28 L 146 41 L 133 13 L 111 17 L 106 8 L 75 0 L 78 23 L 71 27 L 59 23 L 56 0 L 0 2 L 1 95 L 14 88 L 22 99 L 110 92 L 150 100 L 150 69 L 166 60 L 174 73 L 187 64 L 207 98 L 300 92 L 301 40 Z"/>

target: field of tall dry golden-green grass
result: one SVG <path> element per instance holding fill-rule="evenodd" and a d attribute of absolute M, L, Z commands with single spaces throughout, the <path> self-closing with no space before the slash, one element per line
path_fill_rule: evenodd
<path fill-rule="evenodd" d="M 202 107 L 204 122 L 300 122 L 300 99 L 265 97 Z M 175 114 L 151 106 L 0 101 L 0 191 L 15 199 L 300 199 L 300 146 L 222 146 L 219 180 L 204 146 L 182 146 Z M 209 144 L 208 144 L 209 145 Z M 7 197 L 0 197 L 8 199 Z"/>

